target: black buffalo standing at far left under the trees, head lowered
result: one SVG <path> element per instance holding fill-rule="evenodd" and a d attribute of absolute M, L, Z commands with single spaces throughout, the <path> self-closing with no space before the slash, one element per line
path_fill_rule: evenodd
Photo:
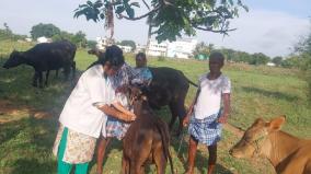
<path fill-rule="evenodd" d="M 43 43 L 37 44 L 33 48 L 26 51 L 14 50 L 8 61 L 3 65 L 3 68 L 13 68 L 22 63 L 32 66 L 35 69 L 33 78 L 33 85 L 37 86 L 37 80 L 39 81 L 39 88 L 43 88 L 43 72 L 46 71 L 45 85 L 48 82 L 48 74 L 50 70 L 59 70 L 64 68 L 66 79 L 71 71 L 72 77 L 76 72 L 76 55 L 77 47 L 68 40 Z"/>

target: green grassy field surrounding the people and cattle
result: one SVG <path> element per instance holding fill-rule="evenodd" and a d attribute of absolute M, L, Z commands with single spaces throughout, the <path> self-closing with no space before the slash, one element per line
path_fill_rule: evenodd
<path fill-rule="evenodd" d="M 22 43 L 0 42 L 0 66 L 13 48 L 25 50 L 30 45 Z M 133 65 L 134 56 L 126 55 Z M 76 56 L 79 72 L 95 60 L 85 50 Z M 207 62 L 196 60 L 159 60 L 149 59 L 152 67 L 172 67 L 182 70 L 192 81 L 206 72 Z M 296 70 L 252 67 L 247 65 L 227 63 L 224 73 L 232 81 L 232 114 L 229 123 L 245 129 L 257 117 L 272 118 L 286 115 L 284 130 L 301 137 L 311 138 L 311 108 L 307 105 L 307 83 L 299 78 Z M 57 119 L 64 103 L 74 82 L 64 82 L 62 77 L 50 74 L 50 85 L 44 90 L 31 86 L 33 69 L 20 66 L 5 70 L 0 68 L 0 174 L 49 174 L 56 173 L 56 160 L 51 156 L 51 147 L 57 130 Z M 186 104 L 196 92 L 191 88 Z M 170 118 L 168 108 L 158 112 L 163 119 Z M 228 154 L 228 150 L 239 137 L 228 130 L 223 131 L 223 140 L 219 143 L 217 173 L 220 174 L 263 174 L 274 173 L 266 160 L 237 160 Z M 171 151 L 177 173 L 185 170 L 187 138 L 182 142 L 173 138 Z M 117 174 L 120 166 L 122 147 L 114 141 L 104 162 L 105 174 Z M 199 147 L 197 155 L 197 173 L 206 173 L 208 153 Z M 92 162 L 90 173 L 95 173 Z M 154 166 L 147 169 L 154 173 Z M 168 170 L 168 173 L 169 170 Z"/>

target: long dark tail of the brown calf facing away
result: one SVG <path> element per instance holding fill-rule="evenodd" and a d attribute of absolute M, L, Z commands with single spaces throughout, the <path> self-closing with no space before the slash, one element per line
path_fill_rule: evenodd
<path fill-rule="evenodd" d="M 173 161 L 172 156 L 170 153 L 170 132 L 169 132 L 169 127 L 166 123 L 162 121 L 160 118 L 158 119 L 157 128 L 160 131 L 161 135 L 161 140 L 163 144 L 163 152 L 165 158 L 169 158 L 170 166 L 171 166 L 171 172 L 174 174 L 174 166 L 173 166 Z"/>

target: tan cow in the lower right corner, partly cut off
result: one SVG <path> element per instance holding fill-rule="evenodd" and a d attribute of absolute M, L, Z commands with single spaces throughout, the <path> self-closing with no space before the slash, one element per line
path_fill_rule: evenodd
<path fill-rule="evenodd" d="M 230 150 L 234 158 L 268 158 L 278 174 L 311 174 L 311 140 L 303 140 L 280 129 L 285 116 L 269 123 L 262 118 L 245 131 Z"/>

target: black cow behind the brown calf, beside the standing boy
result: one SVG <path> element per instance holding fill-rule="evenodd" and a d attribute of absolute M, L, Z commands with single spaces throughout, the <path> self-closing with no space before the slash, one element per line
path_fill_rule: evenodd
<path fill-rule="evenodd" d="M 152 81 L 148 86 L 147 96 L 152 108 L 160 109 L 162 106 L 169 105 L 172 118 L 170 129 L 172 129 L 176 118 L 180 119 L 177 135 L 183 128 L 183 117 L 186 115 L 185 97 L 187 95 L 189 81 L 182 71 L 168 68 L 149 68 L 152 73 Z"/>

